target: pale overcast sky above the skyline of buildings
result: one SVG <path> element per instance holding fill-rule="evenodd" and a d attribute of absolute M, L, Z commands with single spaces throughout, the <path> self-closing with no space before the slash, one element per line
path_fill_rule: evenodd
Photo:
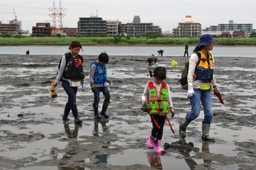
<path fill-rule="evenodd" d="M 59 7 L 60 1 L 54 1 Z M 256 0 L 61 0 L 61 6 L 66 10 L 63 27 L 77 28 L 79 17 L 98 15 L 104 20 L 119 20 L 122 23 L 132 22 L 134 15 L 139 15 L 141 23 L 159 25 L 162 31 L 176 28 L 179 22 L 184 22 L 186 15 L 191 15 L 194 23 L 200 23 L 202 29 L 210 25 L 234 23 L 253 24 L 256 28 Z M 14 19 L 14 11 L 18 20 L 22 21 L 24 31 L 32 31 L 36 22 L 51 20 L 52 0 L 8 0 L 0 1 L 0 20 L 9 23 Z M 57 12 L 57 11 L 56 11 Z M 56 23 L 58 24 L 58 23 Z"/>

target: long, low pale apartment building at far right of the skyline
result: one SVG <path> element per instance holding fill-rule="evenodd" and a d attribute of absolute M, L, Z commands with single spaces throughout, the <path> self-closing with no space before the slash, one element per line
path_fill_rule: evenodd
<path fill-rule="evenodd" d="M 229 20 L 228 24 L 210 25 L 203 31 L 250 31 L 253 30 L 253 24 L 236 24 L 233 20 Z"/>

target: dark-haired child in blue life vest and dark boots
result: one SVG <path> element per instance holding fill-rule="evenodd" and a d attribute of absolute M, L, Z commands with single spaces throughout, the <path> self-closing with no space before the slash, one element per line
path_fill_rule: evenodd
<path fill-rule="evenodd" d="M 100 119 L 101 116 L 108 118 L 106 114 L 106 109 L 110 103 L 110 94 L 106 82 L 111 84 L 110 80 L 107 78 L 106 63 L 109 62 L 109 56 L 106 53 L 101 53 L 98 56 L 97 61 L 93 61 L 90 65 L 90 86 L 92 87 L 92 92 L 94 94 L 93 110 L 94 118 Z M 105 96 L 104 103 L 102 105 L 101 116 L 98 114 L 98 103 L 100 102 L 100 92 Z"/>

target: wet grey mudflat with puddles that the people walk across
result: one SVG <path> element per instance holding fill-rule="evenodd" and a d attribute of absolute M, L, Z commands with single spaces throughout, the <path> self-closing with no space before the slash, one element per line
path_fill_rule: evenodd
<path fill-rule="evenodd" d="M 213 52 L 214 54 L 214 52 Z M 187 91 L 177 86 L 187 57 L 158 57 L 167 69 L 176 115 L 164 126 L 162 147 L 155 154 L 146 141 L 152 124 L 141 111 L 141 96 L 148 80 L 147 56 L 110 56 L 109 118 L 94 120 L 89 66 L 97 56 L 84 56 L 86 90 L 77 92 L 81 125 L 63 122 L 67 95 L 58 86 L 51 98 L 61 56 L 0 55 L 0 169 L 256 169 L 256 59 L 216 57 L 215 76 L 225 105 L 212 97 L 210 136 L 201 140 L 200 116 L 179 138 L 179 124 L 191 110 Z M 177 66 L 171 66 L 171 61 Z M 101 95 L 100 106 L 104 97 Z M 99 108 L 101 111 L 101 109 Z M 18 116 L 19 114 L 19 116 Z"/>

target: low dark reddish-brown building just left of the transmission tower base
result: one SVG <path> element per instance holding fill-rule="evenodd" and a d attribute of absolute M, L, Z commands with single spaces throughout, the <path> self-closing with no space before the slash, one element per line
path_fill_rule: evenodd
<path fill-rule="evenodd" d="M 32 35 L 39 36 L 40 34 L 50 36 L 52 28 L 50 23 L 36 23 L 35 27 L 32 27 Z"/>

